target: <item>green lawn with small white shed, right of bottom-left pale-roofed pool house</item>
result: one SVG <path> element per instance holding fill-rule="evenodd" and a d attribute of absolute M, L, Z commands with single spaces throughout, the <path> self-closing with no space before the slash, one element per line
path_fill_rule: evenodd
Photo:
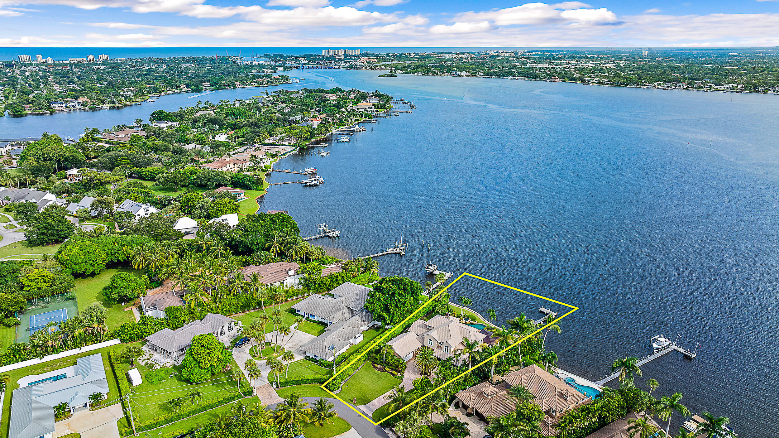
<path fill-rule="evenodd" d="M 124 376 L 127 370 L 132 368 L 129 365 L 129 362 L 114 362 L 114 364 L 117 366 L 116 373 L 118 376 Z M 238 367 L 235 361 L 232 361 L 232 366 L 233 369 Z M 199 406 L 202 406 L 203 404 L 227 397 L 231 394 L 238 394 L 237 383 L 234 380 L 231 380 L 226 373 L 217 373 L 208 379 L 210 381 L 204 383 L 191 384 L 182 380 L 180 373 L 184 367 L 173 366 L 165 370 L 168 374 L 176 372 L 176 375 L 173 377 L 166 376 L 165 380 L 162 382 L 153 384 L 146 380 L 146 374 L 150 372 L 150 369 L 140 364 L 136 364 L 136 367 L 141 373 L 141 380 L 143 380 L 143 383 L 137 387 L 133 387 L 135 392 L 134 395 L 131 395 L 132 415 L 135 417 L 136 428 L 141 424 L 154 421 L 161 415 L 170 414 L 172 411 L 167 405 L 167 401 L 171 398 L 186 397 L 186 394 L 191 390 L 199 390 L 202 392 L 203 399 L 197 404 L 192 404 L 189 400 L 186 401 L 181 408 L 182 411 L 192 411 L 195 413 Z M 231 372 L 228 371 L 227 373 Z M 246 383 L 245 380 L 241 383 L 241 392 L 243 392 L 245 396 L 249 396 L 252 392 L 249 388 L 249 384 Z M 129 424 L 122 424 L 123 422 L 126 422 L 126 419 L 119 422 L 120 430 L 129 426 Z"/>

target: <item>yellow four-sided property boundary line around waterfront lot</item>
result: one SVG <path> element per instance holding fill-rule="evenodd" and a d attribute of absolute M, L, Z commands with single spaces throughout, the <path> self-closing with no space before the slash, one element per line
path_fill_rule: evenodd
<path fill-rule="evenodd" d="M 451 286 L 452 284 L 455 284 L 455 283 L 456 283 L 458 280 L 460 280 L 460 278 L 462 278 L 462 277 L 465 277 L 466 275 L 467 275 L 468 277 L 474 277 L 474 278 L 477 278 L 478 280 L 487 281 L 488 283 L 492 283 L 492 284 L 497 284 L 497 285 L 499 285 L 499 286 L 502 286 L 502 287 L 504 287 L 504 288 L 509 288 L 509 289 L 512 289 L 512 290 L 514 290 L 514 291 L 520 291 L 520 292 L 522 292 L 523 294 L 527 294 L 527 295 L 533 295 L 533 296 L 534 296 L 534 297 L 536 297 L 536 298 L 545 299 L 546 301 L 549 301 L 549 302 L 555 302 L 555 303 L 557 303 L 557 304 L 559 304 L 559 305 L 561 305 L 561 306 L 566 306 L 566 307 L 569 307 L 569 308 L 570 308 L 570 310 L 569 310 L 569 311 L 568 311 L 568 312 L 567 312 L 565 315 L 563 315 L 563 316 L 560 316 L 559 318 L 557 318 L 557 319 L 555 319 L 555 320 L 552 320 L 552 321 L 548 322 L 548 323 L 547 323 L 547 324 L 546 324 L 544 327 L 541 327 L 541 328 L 539 328 L 539 329 L 535 330 L 533 333 L 531 333 L 531 334 L 528 334 L 528 335 L 527 335 L 527 336 L 525 336 L 525 337 L 522 337 L 520 340 L 518 340 L 518 341 L 514 342 L 513 344 L 509 345 L 508 347 L 506 347 L 506 348 L 503 348 L 501 351 L 499 351 L 499 352 L 495 353 L 495 355 L 492 355 L 492 356 L 488 357 L 487 359 L 483 360 L 482 362 L 479 362 L 478 364 L 476 364 L 476 365 L 472 366 L 470 369 L 468 369 L 468 370 L 467 370 L 467 371 L 465 371 L 464 373 L 460 373 L 460 375 L 458 375 L 458 376 L 454 376 L 454 377 L 453 377 L 451 380 L 449 380 L 448 382 L 446 382 L 446 383 L 443 383 L 441 386 L 439 386 L 439 387 L 437 387 L 437 388 L 435 388 L 435 389 L 431 390 L 430 392 L 428 392 L 428 394 L 425 394 L 425 395 L 423 395 L 423 396 L 419 397 L 417 400 L 414 400 L 414 401 L 413 401 L 413 402 L 411 402 L 410 404 L 407 404 L 407 405 L 406 405 L 406 406 L 405 406 L 403 409 L 400 409 L 400 411 L 393 412 L 393 414 L 391 414 L 391 415 L 387 415 L 387 417 L 386 417 L 386 418 L 379 420 L 379 422 L 374 422 L 372 418 L 368 418 L 368 416 L 366 416 L 365 414 L 363 414 L 362 412 L 360 412 L 360 410 L 359 410 L 358 408 L 355 408 L 355 407 L 354 407 L 354 406 L 353 406 L 351 403 L 349 403 L 349 402 L 347 402 L 347 401 L 345 401 L 345 400 L 341 399 L 341 397 L 338 397 L 338 396 L 337 396 L 336 394 L 334 394 L 334 393 L 333 393 L 331 390 L 327 389 L 327 388 L 326 388 L 326 385 L 327 385 L 327 383 L 330 383 L 330 381 L 331 381 L 331 380 L 335 379 L 335 378 L 336 378 L 336 376 L 338 376 L 340 373 L 343 373 L 343 372 L 344 372 L 344 371 L 345 371 L 347 368 L 349 368 L 349 366 L 351 366 L 351 364 L 353 364 L 354 362 L 357 362 L 357 361 L 358 361 L 358 359 L 360 359 L 360 358 L 361 358 L 363 355 L 365 355 L 366 353 L 368 353 L 368 351 L 371 351 L 371 350 L 372 350 L 372 348 L 373 348 L 373 347 L 375 347 L 375 345 L 378 345 L 379 343 L 381 343 L 382 341 L 384 341 L 384 338 L 386 338 L 387 336 L 389 336 L 389 335 L 390 335 L 390 334 L 393 332 L 393 330 L 392 330 L 392 329 L 390 329 L 390 330 L 387 330 L 387 333 L 386 333 L 386 334 L 384 334 L 382 337 L 379 337 L 379 339 L 378 339 L 378 340 L 376 340 L 376 341 L 375 341 L 373 344 L 371 344 L 371 346 L 370 346 L 369 348 L 367 348 L 365 351 L 363 351 L 363 352 L 361 353 L 361 355 L 358 355 L 358 356 L 357 356 L 356 358 L 354 358 L 354 359 L 353 359 L 351 362 L 347 363 L 347 365 L 346 365 L 346 366 L 344 366 L 344 368 L 343 368 L 343 369 L 341 369 L 341 370 L 340 370 L 338 373 L 335 373 L 335 374 L 333 374 L 333 376 L 332 376 L 332 377 L 330 377 L 330 379 L 328 379 L 328 380 L 327 380 L 325 383 L 323 383 L 323 384 L 321 385 L 322 389 L 323 389 L 323 390 L 326 390 L 326 391 L 327 391 L 329 394 L 333 395 L 333 397 L 336 397 L 338 400 L 342 401 L 342 402 L 343 402 L 344 404 L 346 404 L 346 405 L 347 405 L 349 408 L 351 408 L 351 409 L 352 409 L 354 412 L 357 412 L 357 413 L 358 413 L 359 415 L 361 415 L 363 418 L 365 418 L 365 419 L 366 419 L 366 420 L 368 420 L 369 422 L 372 422 L 372 423 L 373 423 L 375 426 L 379 426 L 379 423 L 380 423 L 380 422 L 382 422 L 382 421 L 384 421 L 384 420 L 386 420 L 386 419 L 390 419 L 390 418 L 392 418 L 394 415 L 400 414 L 400 412 L 403 412 L 403 411 L 404 411 L 404 410 L 406 410 L 407 408 L 410 408 L 410 407 L 411 407 L 411 406 L 413 406 L 414 404 L 417 404 L 419 401 L 421 401 L 422 399 L 424 399 L 424 398 L 425 398 L 425 397 L 427 397 L 428 395 L 430 395 L 430 394 L 434 393 L 435 391 L 437 391 L 437 390 L 441 389 L 442 387 L 446 387 L 446 385 L 448 385 L 449 383 L 452 383 L 453 381 L 455 381 L 455 380 L 457 380 L 457 379 L 460 379 L 460 377 L 462 377 L 462 376 L 465 376 L 467 373 L 470 373 L 472 369 L 476 369 L 476 368 L 478 368 L 479 366 L 482 366 L 482 365 L 484 365 L 485 363 L 487 363 L 487 362 L 491 361 L 492 359 L 495 359 L 495 357 L 497 357 L 497 356 L 499 356 L 499 355 L 502 355 L 502 354 L 503 354 L 503 353 L 505 353 L 506 351 L 509 351 L 509 349 L 511 349 L 511 348 L 513 348 L 513 347 L 515 347 L 517 344 L 520 344 L 520 342 L 524 341 L 524 340 L 525 340 L 525 339 L 527 339 L 528 337 L 534 336 L 534 334 L 537 334 L 537 333 L 538 333 L 538 332 L 540 332 L 541 330 L 544 330 L 545 328 L 547 328 L 547 327 L 551 326 L 553 323 L 556 323 L 556 322 L 558 322 L 559 320 L 562 320 L 562 318 L 565 318 L 566 316 L 569 316 L 571 313 L 574 313 L 574 312 L 576 312 L 576 310 L 578 310 L 578 309 L 579 309 L 579 308 L 578 308 L 578 307 L 576 307 L 576 306 L 571 306 L 571 305 L 569 305 L 569 304 L 566 304 L 566 303 L 564 303 L 564 302 L 559 302 L 559 301 L 557 301 L 557 300 L 554 300 L 554 299 L 552 299 L 552 298 L 546 298 L 546 297 L 544 297 L 544 296 L 541 296 L 541 295 L 538 295 L 538 294 L 534 294 L 533 292 L 528 292 L 528 291 L 523 291 L 522 289 L 512 288 L 511 286 L 507 286 L 506 284 L 502 284 L 502 283 L 498 283 L 497 281 L 492 281 L 492 280 L 488 280 L 488 279 L 486 279 L 486 278 L 478 277 L 478 276 L 476 276 L 476 275 L 474 275 L 474 274 L 468 274 L 467 272 L 464 272 L 463 274 L 460 274 L 460 277 L 457 277 L 457 278 L 456 278 L 454 281 L 452 281 L 451 283 L 447 284 L 445 288 L 441 289 L 441 291 L 439 291 L 439 293 L 437 293 L 437 294 L 433 295 L 432 297 L 430 297 L 430 300 L 437 298 L 439 295 L 441 295 L 442 293 L 444 293 L 444 291 L 446 291 L 446 289 L 448 289 L 448 288 L 449 288 L 449 286 Z M 429 300 L 428 300 L 428 302 L 429 302 Z M 397 323 L 397 324 L 395 325 L 395 327 L 398 327 L 398 326 L 401 326 L 401 325 L 403 325 L 404 323 L 406 323 L 406 321 L 407 321 L 407 320 L 411 320 L 411 318 L 412 318 L 412 317 L 414 317 L 414 315 L 416 315 L 417 313 L 419 313 L 419 311 L 421 311 L 421 309 L 424 309 L 424 308 L 425 308 L 425 305 L 423 304 L 422 306 L 420 306 L 420 307 L 419 307 L 419 309 L 415 310 L 415 311 L 414 311 L 414 313 L 411 313 L 411 315 L 409 315 L 409 316 L 408 316 L 408 317 L 407 317 L 405 320 L 402 320 L 402 321 L 400 321 L 400 323 Z M 335 360 L 335 359 L 333 359 L 333 360 Z"/>

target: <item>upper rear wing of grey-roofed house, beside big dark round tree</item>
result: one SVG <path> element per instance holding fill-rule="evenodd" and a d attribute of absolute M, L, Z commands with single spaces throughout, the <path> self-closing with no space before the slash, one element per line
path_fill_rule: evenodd
<path fill-rule="evenodd" d="M 370 288 L 346 282 L 330 291 L 333 296 L 309 295 L 301 302 L 292 305 L 298 315 L 308 319 L 322 321 L 328 325 L 346 321 L 353 316 L 361 316 L 365 311 L 365 301 L 368 300 Z M 370 315 L 370 313 L 368 313 Z M 368 318 L 368 316 L 364 316 Z M 373 316 L 370 316 L 373 320 Z"/>

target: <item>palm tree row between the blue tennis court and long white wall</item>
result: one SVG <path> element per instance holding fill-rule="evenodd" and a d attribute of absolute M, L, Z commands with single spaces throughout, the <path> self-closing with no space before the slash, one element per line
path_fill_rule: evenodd
<path fill-rule="evenodd" d="M 46 327 L 30 334 L 30 340 L 26 343 L 9 345 L 9 348 L 0 354 L 0 363 L 7 365 L 42 358 L 60 351 L 97 344 L 105 341 L 107 337 L 105 313 L 87 313 L 85 309 L 85 312 L 69 320 L 48 323 Z"/>

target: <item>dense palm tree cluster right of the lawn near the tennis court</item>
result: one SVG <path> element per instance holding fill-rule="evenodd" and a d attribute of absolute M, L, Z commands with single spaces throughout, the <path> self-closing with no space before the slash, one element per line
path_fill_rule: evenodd
<path fill-rule="evenodd" d="M 130 253 L 132 267 L 156 274 L 162 281 L 170 280 L 173 290 L 185 290 L 184 296 L 192 315 L 202 313 L 238 313 L 241 310 L 265 307 L 266 302 L 280 303 L 300 295 L 295 288 L 266 286 L 262 276 L 241 274 L 242 260 L 233 255 L 222 242 L 198 235 L 191 243 L 185 241 L 153 242 L 141 245 Z M 227 297 L 239 308 L 223 309 Z M 220 312 L 223 311 L 223 312 Z"/>

